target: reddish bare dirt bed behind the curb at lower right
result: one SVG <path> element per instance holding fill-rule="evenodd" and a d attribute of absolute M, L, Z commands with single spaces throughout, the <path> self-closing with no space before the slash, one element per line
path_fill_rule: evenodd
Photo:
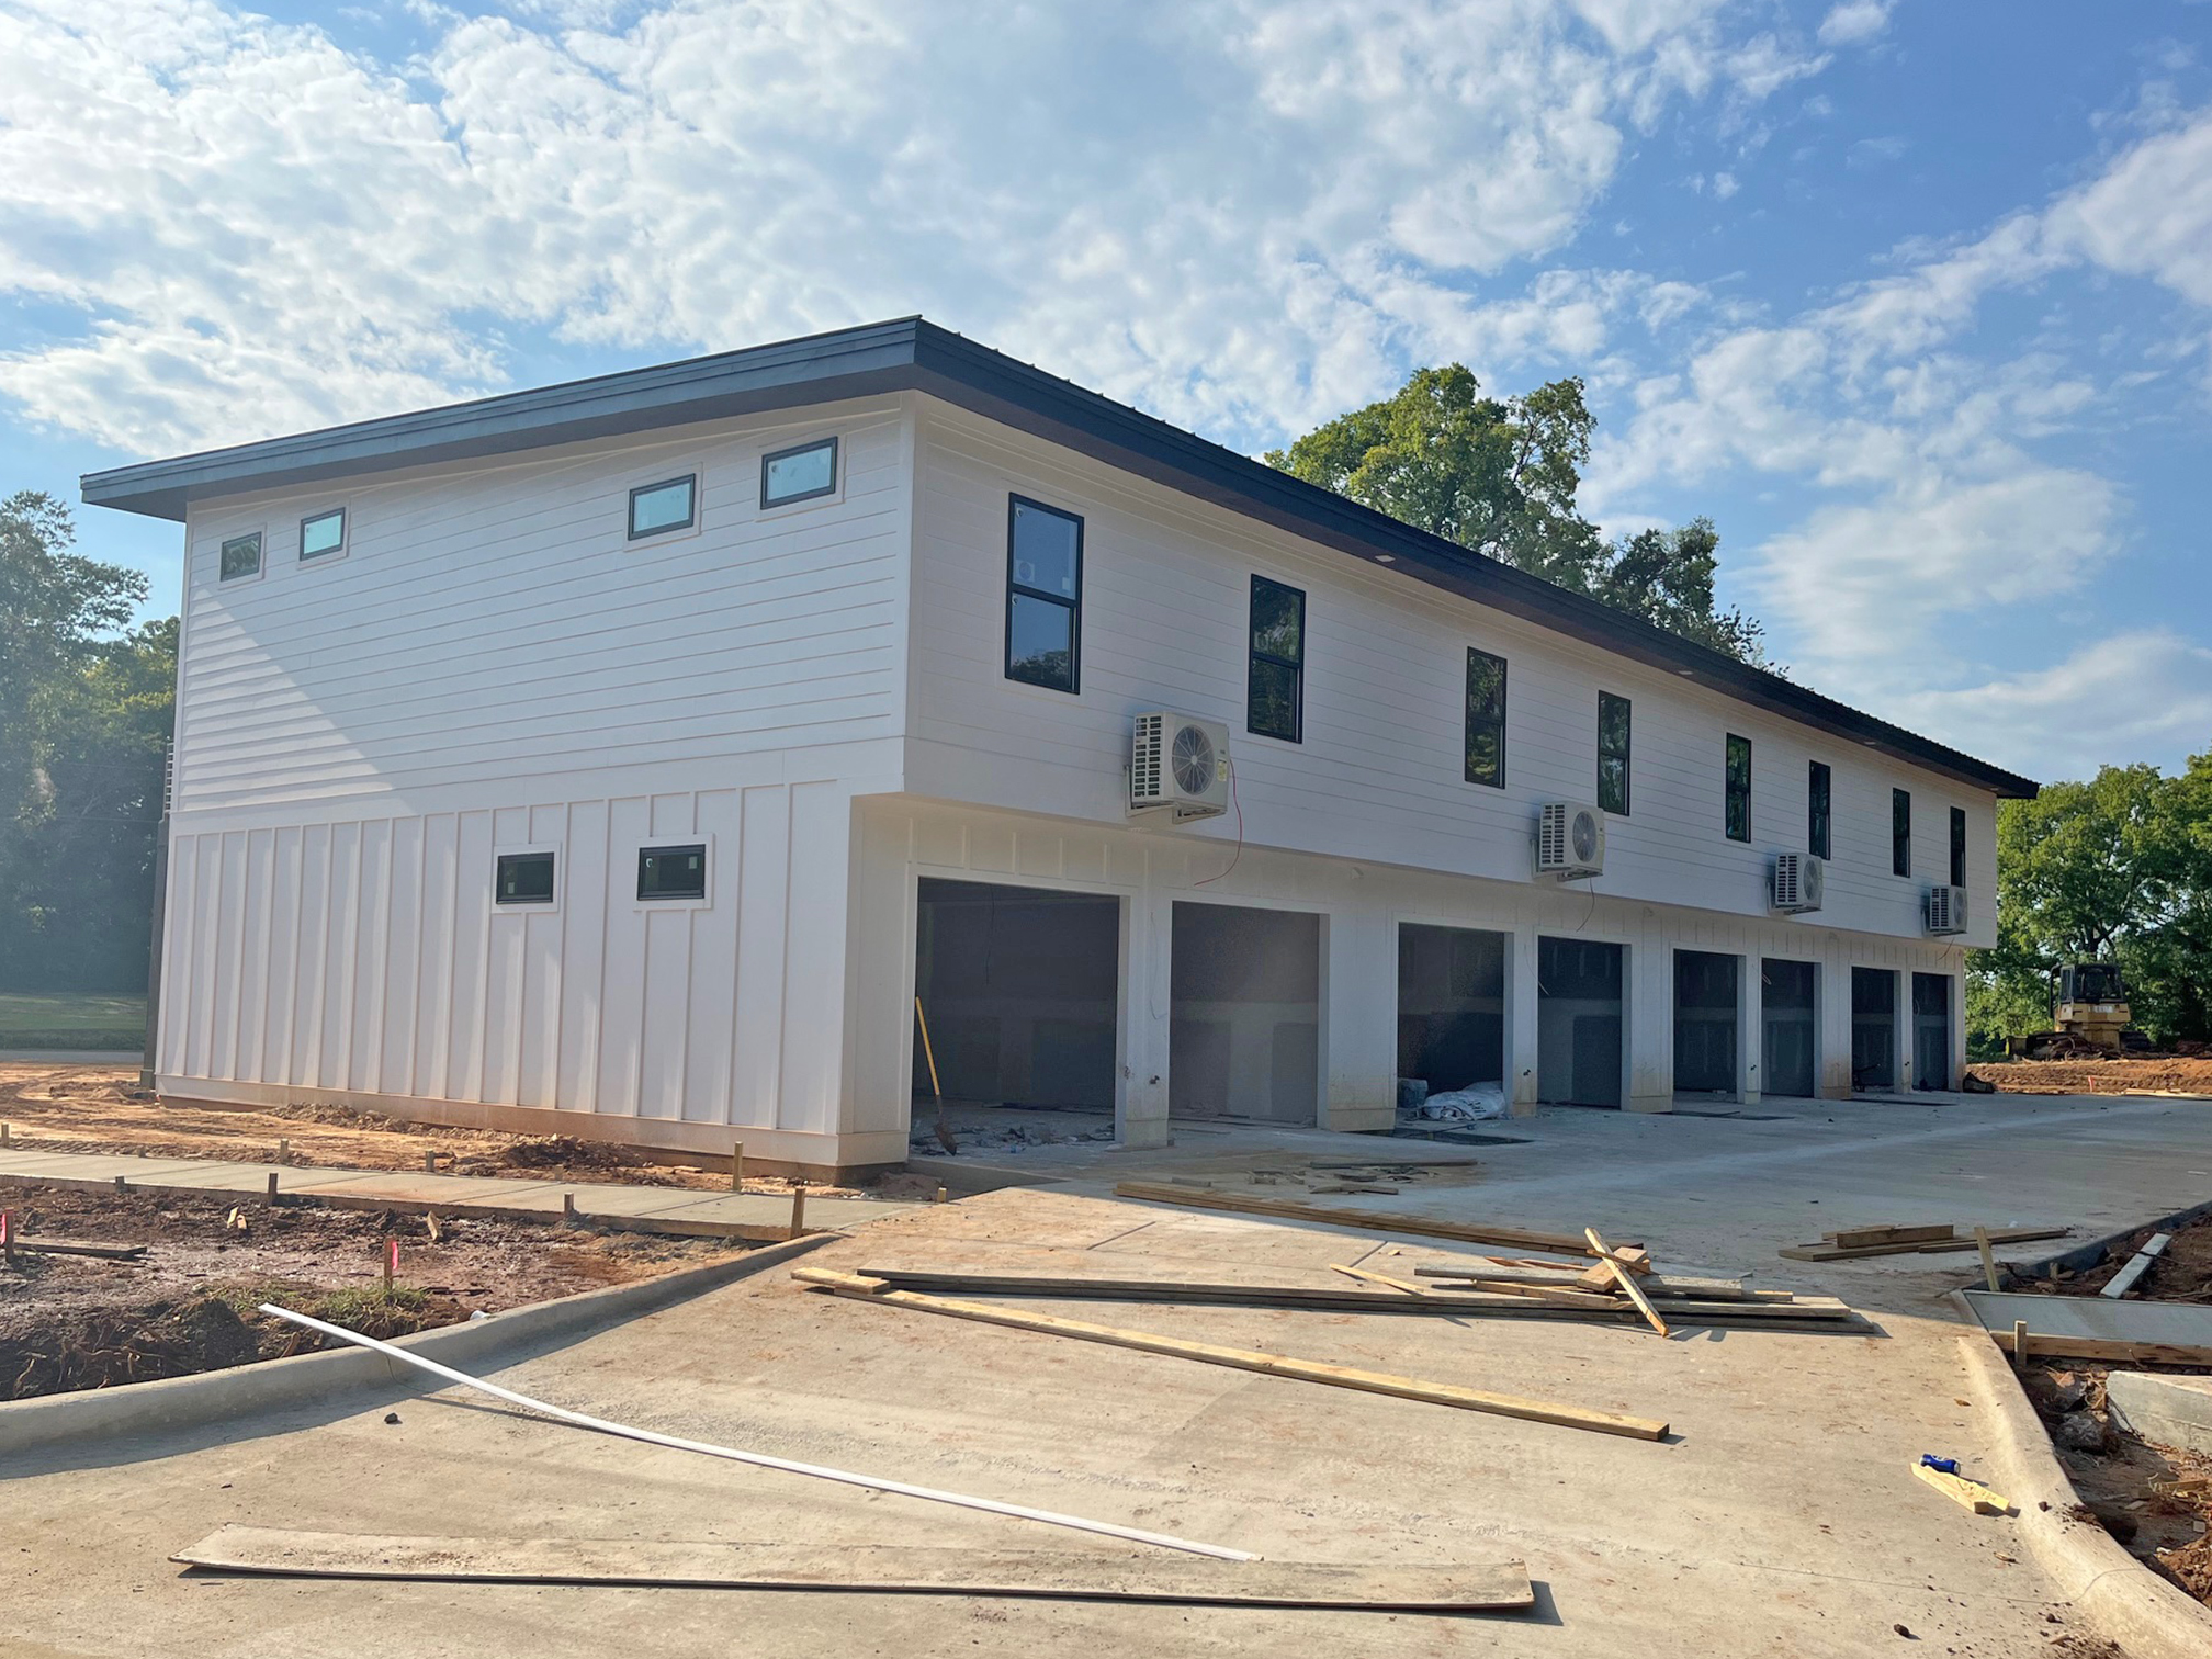
<path fill-rule="evenodd" d="M 2095 1267 L 2020 1290 L 2095 1296 L 2148 1239 L 2143 1228 Z M 2177 1228 L 2139 1285 L 2141 1301 L 2212 1303 L 2212 1219 Z M 2117 1429 L 2104 1398 L 2108 1369 L 2095 1360 L 2033 1360 L 2024 1383 L 2066 1478 L 2081 1493 L 2084 1520 L 2104 1522 L 2152 1571 L 2212 1606 L 2212 1458 L 2152 1447 Z M 2194 1365 L 2130 1369 L 2205 1376 Z"/>

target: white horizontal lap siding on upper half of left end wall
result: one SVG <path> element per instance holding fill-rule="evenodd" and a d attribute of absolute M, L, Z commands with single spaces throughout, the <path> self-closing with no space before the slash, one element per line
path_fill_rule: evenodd
<path fill-rule="evenodd" d="M 761 453 L 832 431 L 843 498 L 757 511 Z M 630 487 L 686 471 L 701 529 L 628 542 Z M 883 403 L 195 507 L 177 810 L 891 737 L 907 502 Z M 336 504 L 345 557 L 299 564 Z M 252 529 L 263 575 L 217 582 Z"/>

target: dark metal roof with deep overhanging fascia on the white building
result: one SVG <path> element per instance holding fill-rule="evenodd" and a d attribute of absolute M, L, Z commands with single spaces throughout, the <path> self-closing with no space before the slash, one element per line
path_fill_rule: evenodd
<path fill-rule="evenodd" d="M 232 449 L 86 473 L 84 500 L 184 520 L 186 507 L 248 489 L 354 478 L 478 456 L 608 438 L 695 420 L 790 409 L 880 392 L 927 392 L 975 414 L 1139 473 L 1186 495 L 1458 593 L 1553 633 L 1666 668 L 1785 719 L 1900 761 L 2024 799 L 2035 783 L 1902 726 L 1750 668 L 1613 606 L 1301 482 L 1166 420 L 1018 363 L 920 316 L 754 345 L 743 352 L 602 374 L 445 409 L 358 420 Z"/>

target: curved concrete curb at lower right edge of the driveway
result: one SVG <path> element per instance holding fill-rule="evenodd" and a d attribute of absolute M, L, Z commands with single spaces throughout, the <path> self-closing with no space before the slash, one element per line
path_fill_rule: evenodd
<path fill-rule="evenodd" d="M 2128 1555 L 2104 1526 L 2068 1513 L 2081 1498 L 2020 1380 L 1980 1325 L 1960 1336 L 1960 1356 L 1995 1427 L 1997 1480 L 1991 1484 L 2020 1506 L 2020 1535 L 2075 1610 L 2130 1659 L 2212 1652 L 2212 1610 Z"/>

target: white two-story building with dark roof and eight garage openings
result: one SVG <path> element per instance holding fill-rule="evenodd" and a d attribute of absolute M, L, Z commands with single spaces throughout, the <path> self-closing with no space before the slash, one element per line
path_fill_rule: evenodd
<path fill-rule="evenodd" d="M 2035 790 L 918 319 L 84 500 L 188 542 L 168 1099 L 856 1170 L 918 1004 L 1139 1146 L 1949 1088 Z"/>

